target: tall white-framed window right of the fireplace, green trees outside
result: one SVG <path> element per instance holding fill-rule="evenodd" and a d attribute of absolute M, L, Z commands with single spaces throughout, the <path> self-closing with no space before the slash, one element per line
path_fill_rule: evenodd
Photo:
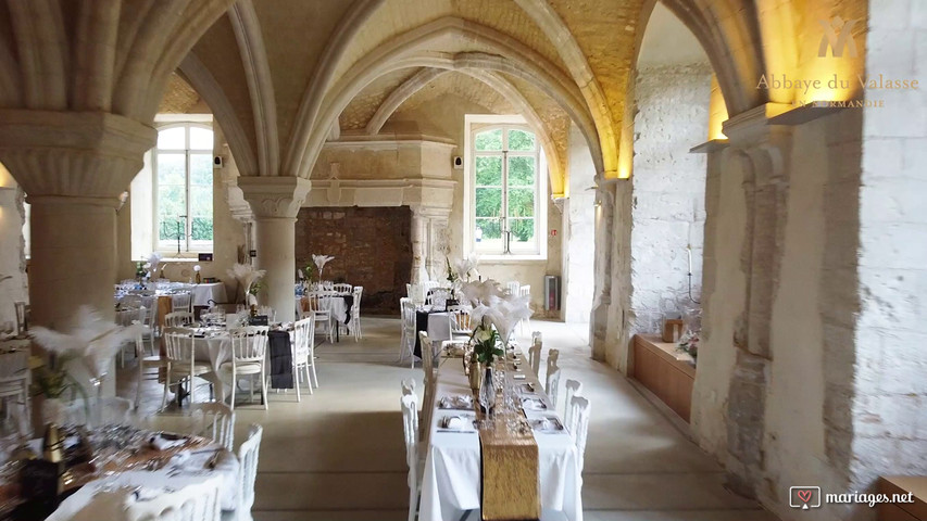
<path fill-rule="evenodd" d="M 475 123 L 467 122 L 467 250 L 489 256 L 544 256 L 547 207 L 541 202 L 547 183 L 537 135 L 521 123 Z"/>

